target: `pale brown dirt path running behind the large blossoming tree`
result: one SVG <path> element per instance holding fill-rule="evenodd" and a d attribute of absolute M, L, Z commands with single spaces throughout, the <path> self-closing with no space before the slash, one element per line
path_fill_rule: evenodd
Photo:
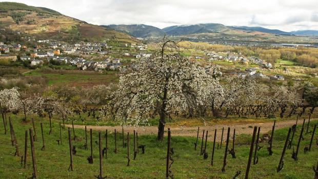
<path fill-rule="evenodd" d="M 317 119 L 311 119 L 310 121 L 315 121 Z M 307 121 L 306 121 L 307 122 Z M 285 127 L 291 127 L 296 123 L 296 120 L 290 120 L 290 121 L 282 121 L 282 122 L 276 122 L 275 129 L 285 128 Z M 301 124 L 302 121 L 299 120 L 298 124 Z M 67 127 L 72 127 L 72 125 L 66 125 Z M 252 126 L 252 127 L 251 127 Z M 214 135 L 214 129 L 217 129 L 216 131 L 216 140 L 221 141 L 221 135 L 222 135 L 222 128 L 224 127 L 224 136 L 226 137 L 227 133 L 227 127 L 231 128 L 231 133 L 233 132 L 233 129 L 235 128 L 235 134 L 252 134 L 253 133 L 253 126 L 260 126 L 261 127 L 261 133 L 268 133 L 270 130 L 272 130 L 273 122 L 268 123 L 251 123 L 251 124 L 235 124 L 235 125 L 212 125 L 212 126 L 201 126 L 200 127 L 200 133 L 199 136 L 202 136 L 202 130 L 208 130 L 208 140 L 212 141 L 212 135 Z M 307 125 L 305 124 L 305 127 Z M 169 126 L 166 126 L 166 130 Z M 74 128 L 82 128 L 85 129 L 85 126 L 83 125 L 74 125 Z M 118 132 L 122 132 L 121 126 L 87 126 L 87 129 L 93 129 L 93 130 L 99 130 L 99 131 L 105 131 L 108 129 L 109 131 L 113 131 L 116 129 Z M 170 127 L 172 136 L 192 136 L 196 137 L 197 134 L 197 127 Z M 149 127 L 124 127 L 124 131 L 127 132 L 133 132 L 133 130 L 138 131 L 139 134 L 156 134 L 158 128 L 156 126 L 149 126 Z"/>

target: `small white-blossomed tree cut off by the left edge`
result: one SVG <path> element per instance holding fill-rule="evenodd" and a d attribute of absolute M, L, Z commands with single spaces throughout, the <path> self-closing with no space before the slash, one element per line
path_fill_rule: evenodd
<path fill-rule="evenodd" d="M 21 107 L 20 93 L 17 87 L 11 89 L 4 89 L 0 91 L 0 111 L 5 127 L 5 134 L 7 133 L 7 112 L 17 110 Z"/>

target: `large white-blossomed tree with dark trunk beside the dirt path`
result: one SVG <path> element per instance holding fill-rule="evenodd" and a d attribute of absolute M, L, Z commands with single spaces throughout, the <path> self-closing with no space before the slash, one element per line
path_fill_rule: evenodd
<path fill-rule="evenodd" d="M 158 109 L 158 140 L 163 140 L 170 112 L 186 111 L 203 102 L 203 87 L 213 75 L 212 67 L 201 67 L 175 51 L 166 54 L 164 50 L 172 46 L 177 48 L 173 41 L 165 42 L 160 53 L 142 58 L 122 75 L 118 90 L 104 106 L 109 116 L 133 125 L 146 122 L 151 111 Z"/>

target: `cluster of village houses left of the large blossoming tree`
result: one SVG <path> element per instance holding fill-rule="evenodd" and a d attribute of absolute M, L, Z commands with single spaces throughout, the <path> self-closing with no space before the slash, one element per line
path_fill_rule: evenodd
<path fill-rule="evenodd" d="M 29 39 L 30 41 L 30 39 Z M 35 41 L 33 39 L 33 41 Z M 115 56 L 122 56 L 127 59 L 149 57 L 147 45 L 144 44 L 125 44 L 124 53 L 112 50 L 106 42 L 79 42 L 68 44 L 62 42 L 39 40 L 37 45 L 27 46 L 20 44 L 4 44 L 0 42 L 0 59 L 10 59 L 11 61 L 21 61 L 29 63 L 31 67 L 42 66 L 45 62 L 75 66 L 79 70 L 116 70 L 123 66 L 123 59 Z M 134 53 L 130 53 L 134 51 Z M 92 60 L 95 57 L 97 60 Z"/>

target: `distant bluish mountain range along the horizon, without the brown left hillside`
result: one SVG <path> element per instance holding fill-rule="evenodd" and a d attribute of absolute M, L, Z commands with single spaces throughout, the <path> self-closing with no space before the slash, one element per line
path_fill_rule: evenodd
<path fill-rule="evenodd" d="M 195 25 L 180 25 L 170 26 L 163 29 L 149 26 L 149 25 L 109 25 L 103 26 L 113 28 L 115 30 L 128 33 L 134 37 L 161 37 L 164 34 L 172 36 L 202 34 L 202 33 L 224 33 L 224 34 L 247 34 L 247 33 L 269 33 L 275 35 L 305 35 L 318 36 L 316 30 L 300 30 L 285 32 L 277 29 L 267 29 L 263 27 L 247 27 L 247 26 L 225 26 L 222 24 L 195 24 Z M 254 35 L 253 34 L 253 35 Z"/>

